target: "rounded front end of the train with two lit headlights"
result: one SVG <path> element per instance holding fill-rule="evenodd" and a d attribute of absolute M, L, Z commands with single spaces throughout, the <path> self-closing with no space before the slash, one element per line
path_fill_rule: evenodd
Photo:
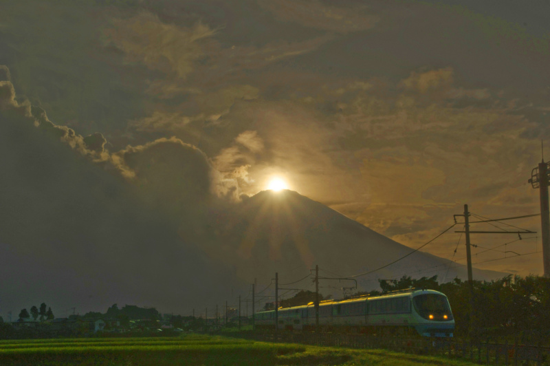
<path fill-rule="evenodd" d="M 412 292 L 411 297 L 411 323 L 421 336 L 452 337 L 454 317 L 444 294 L 421 290 Z"/>

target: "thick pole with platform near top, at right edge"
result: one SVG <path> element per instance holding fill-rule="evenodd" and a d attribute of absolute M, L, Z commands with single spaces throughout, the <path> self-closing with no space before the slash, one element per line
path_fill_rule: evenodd
<path fill-rule="evenodd" d="M 540 229 L 542 230 L 542 265 L 544 277 L 550 278 L 550 210 L 548 204 L 549 163 L 538 163 L 538 167 L 531 171 L 529 183 L 540 194 Z"/>

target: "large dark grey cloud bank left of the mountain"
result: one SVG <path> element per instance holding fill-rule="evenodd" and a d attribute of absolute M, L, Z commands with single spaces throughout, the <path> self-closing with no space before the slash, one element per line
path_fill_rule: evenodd
<path fill-rule="evenodd" d="M 86 147 L 100 151 L 102 136 L 82 138 L 58 128 L 41 109 L 32 116 L 30 106 L 15 102 L 8 82 L 0 91 L 0 185 L 6 193 L 0 195 L 0 250 L 13 268 L 3 277 L 2 311 L 28 306 L 21 286 L 30 291 L 36 283 L 42 290 L 30 301 L 45 296 L 58 310 L 72 303 L 80 312 L 113 302 L 188 311 L 193 297 L 221 301 L 217 296 L 239 286 L 223 263 L 197 246 L 209 240 L 197 230 L 205 219 L 196 215 L 213 182 L 201 151 L 173 139 L 113 154 L 133 172 L 132 189 L 118 173 L 102 169 L 107 160 L 83 154 Z M 163 181 L 173 185 L 161 187 Z M 170 204 L 185 208 L 173 211 Z M 201 295 L 201 288 L 208 290 Z"/>

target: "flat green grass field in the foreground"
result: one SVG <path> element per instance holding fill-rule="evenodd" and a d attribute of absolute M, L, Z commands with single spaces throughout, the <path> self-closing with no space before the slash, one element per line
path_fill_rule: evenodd
<path fill-rule="evenodd" d="M 0 365 L 474 365 L 447 358 L 218 336 L 0 341 Z"/>

